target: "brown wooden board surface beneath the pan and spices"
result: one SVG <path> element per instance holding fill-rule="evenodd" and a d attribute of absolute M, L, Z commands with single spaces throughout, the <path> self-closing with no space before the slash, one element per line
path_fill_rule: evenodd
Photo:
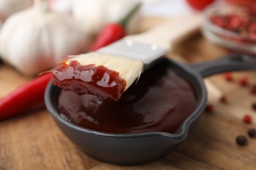
<path fill-rule="evenodd" d="M 227 53 L 200 33 L 173 50 L 174 56 L 190 62 Z M 235 141 L 237 135 L 247 135 L 247 129 L 256 128 L 256 111 L 251 109 L 256 95 L 249 93 L 249 88 L 256 84 L 255 73 L 233 72 L 233 82 L 224 80 L 222 74 L 209 77 L 226 94 L 228 103 L 211 103 L 214 112 L 203 112 L 192 135 L 160 160 L 128 167 L 94 160 L 62 134 L 43 108 L 0 122 L 0 169 L 256 169 L 256 138 L 248 137 L 247 146 L 238 146 Z M 249 77 L 249 86 L 241 87 L 238 81 L 245 75 Z M 28 80 L 11 67 L 1 65 L 0 97 Z M 253 117 L 252 124 L 242 121 L 244 114 Z"/>

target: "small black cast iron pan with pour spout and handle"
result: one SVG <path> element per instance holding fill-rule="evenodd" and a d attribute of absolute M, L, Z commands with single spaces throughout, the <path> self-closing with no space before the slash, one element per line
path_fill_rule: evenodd
<path fill-rule="evenodd" d="M 160 64 L 168 65 L 178 71 L 191 84 L 198 96 L 198 107 L 173 134 L 165 132 L 117 134 L 79 127 L 62 118 L 58 113 L 56 97 L 60 88 L 53 86 L 51 82 L 45 92 L 47 109 L 70 141 L 89 156 L 122 165 L 146 163 L 171 152 L 188 137 L 196 125 L 207 104 L 207 91 L 203 84 L 203 77 L 226 71 L 256 69 L 256 58 L 234 54 L 215 61 L 192 65 L 184 65 L 169 59 L 161 60 Z"/>

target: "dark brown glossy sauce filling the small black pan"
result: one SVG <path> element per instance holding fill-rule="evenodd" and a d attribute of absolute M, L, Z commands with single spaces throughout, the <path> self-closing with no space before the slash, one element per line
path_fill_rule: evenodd
<path fill-rule="evenodd" d="M 78 126 L 110 133 L 175 133 L 197 107 L 193 88 L 170 67 L 145 71 L 118 101 L 60 91 L 61 116 Z"/>

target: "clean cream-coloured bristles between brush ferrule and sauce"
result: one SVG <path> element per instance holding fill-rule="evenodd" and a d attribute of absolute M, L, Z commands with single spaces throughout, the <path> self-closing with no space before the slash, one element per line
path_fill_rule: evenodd
<path fill-rule="evenodd" d="M 90 52 L 87 54 L 70 56 L 70 58 L 66 60 L 66 63 L 68 64 L 69 61 L 73 60 L 78 61 L 81 65 L 104 65 L 104 67 L 116 71 L 119 73 L 119 76 L 124 78 L 126 81 L 125 90 L 127 90 L 127 88 L 129 88 L 129 86 L 131 86 L 131 84 L 133 84 L 133 82 L 139 78 L 144 66 L 142 61 L 139 60 L 112 56 L 100 52 Z"/>

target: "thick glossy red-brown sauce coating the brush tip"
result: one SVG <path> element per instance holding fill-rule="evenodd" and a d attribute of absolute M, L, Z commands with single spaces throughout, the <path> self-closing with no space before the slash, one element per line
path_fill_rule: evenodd
<path fill-rule="evenodd" d="M 126 82 L 119 73 L 104 66 L 80 65 L 77 61 L 63 61 L 52 70 L 53 84 L 78 95 L 93 94 L 102 99 L 117 100 Z"/>

